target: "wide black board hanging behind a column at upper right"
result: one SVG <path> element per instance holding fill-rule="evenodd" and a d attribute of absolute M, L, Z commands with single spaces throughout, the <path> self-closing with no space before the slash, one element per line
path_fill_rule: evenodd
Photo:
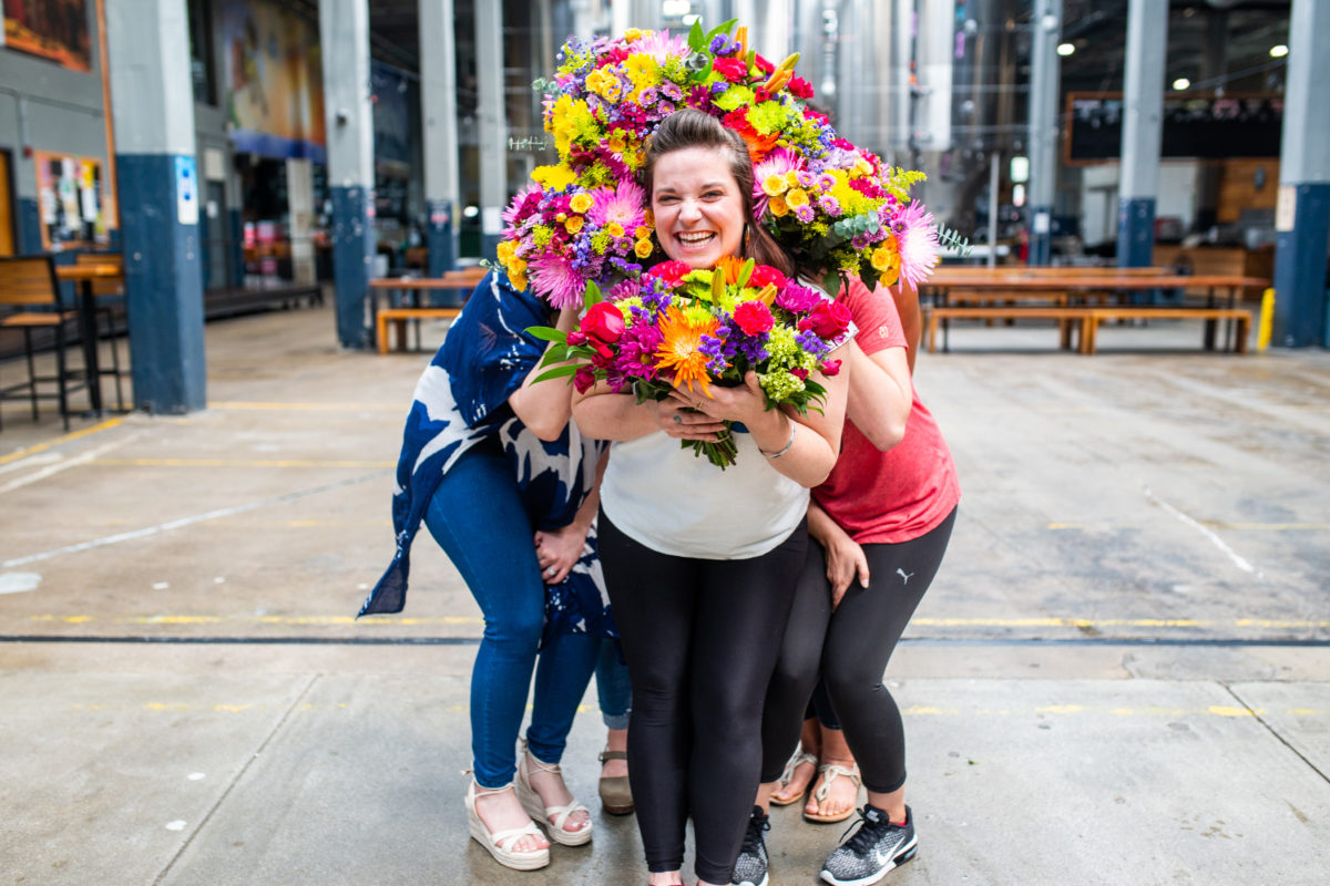
<path fill-rule="evenodd" d="M 1120 159 L 1123 93 L 1067 94 L 1067 162 Z M 1165 96 L 1165 158 L 1278 157 L 1282 96 Z"/>

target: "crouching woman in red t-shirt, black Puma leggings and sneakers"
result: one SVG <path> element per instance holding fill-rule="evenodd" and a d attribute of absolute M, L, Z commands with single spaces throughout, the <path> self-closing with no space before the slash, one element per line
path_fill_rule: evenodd
<path fill-rule="evenodd" d="M 858 280 L 842 299 L 858 327 L 847 421 L 841 457 L 809 506 L 809 534 L 818 543 L 809 546 L 766 697 L 763 785 L 734 883 L 757 886 L 766 875 L 766 808 L 819 676 L 853 752 L 837 761 L 823 748 L 823 784 L 843 776 L 858 788 L 862 777 L 868 790 L 859 828 L 827 858 L 822 879 L 875 882 L 915 851 L 904 804 L 904 727 L 882 675 L 942 563 L 960 487 L 938 424 L 914 392 L 911 341 L 895 302 Z M 813 821 L 849 814 L 819 817 L 814 800 L 806 810 Z"/>

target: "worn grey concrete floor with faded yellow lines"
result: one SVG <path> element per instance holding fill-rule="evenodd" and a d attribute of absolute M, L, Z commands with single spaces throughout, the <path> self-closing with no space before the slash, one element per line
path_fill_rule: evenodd
<path fill-rule="evenodd" d="M 920 356 L 964 499 L 887 675 L 920 853 L 884 882 L 1326 882 L 1330 355 L 1200 336 Z M 351 619 L 426 360 L 277 312 L 207 327 L 205 412 L 4 404 L 0 883 L 645 882 L 632 818 L 532 874 L 467 838 L 481 624 L 434 545 L 406 612 Z M 588 801 L 602 737 L 591 693 Z M 778 810 L 773 885 L 841 833 Z"/>

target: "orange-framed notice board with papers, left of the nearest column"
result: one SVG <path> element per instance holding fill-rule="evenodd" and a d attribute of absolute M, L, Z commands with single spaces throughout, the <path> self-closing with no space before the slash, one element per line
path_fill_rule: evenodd
<path fill-rule="evenodd" d="M 101 161 L 35 151 L 41 246 L 76 248 L 106 242 Z"/>

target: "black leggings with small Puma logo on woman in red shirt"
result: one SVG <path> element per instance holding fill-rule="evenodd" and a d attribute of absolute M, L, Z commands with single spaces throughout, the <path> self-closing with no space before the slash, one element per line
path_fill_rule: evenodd
<path fill-rule="evenodd" d="M 876 793 L 891 793 L 904 785 L 904 724 L 882 675 L 938 574 L 955 521 L 952 510 L 919 538 L 899 545 L 864 545 L 868 587 L 861 587 L 855 576 L 834 612 L 826 554 L 821 545 L 809 545 L 762 715 L 762 781 L 781 777 L 798 744 L 821 667 L 831 707 L 863 773 L 863 785 Z"/>

